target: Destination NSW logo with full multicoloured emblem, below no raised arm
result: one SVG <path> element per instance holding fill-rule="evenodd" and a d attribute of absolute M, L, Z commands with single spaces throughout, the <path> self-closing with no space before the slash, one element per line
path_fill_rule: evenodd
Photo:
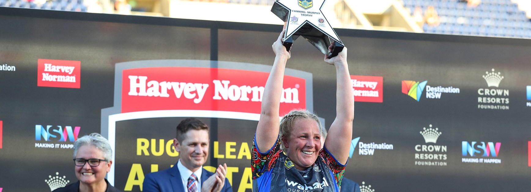
<path fill-rule="evenodd" d="M 428 81 L 412 81 L 412 80 L 403 80 L 402 81 L 402 93 L 409 95 L 413 99 L 421 100 L 422 92 L 426 88 L 426 98 L 429 99 L 440 99 L 443 93 L 460 93 L 459 88 L 455 87 L 443 87 L 443 86 L 429 86 L 426 85 Z"/>

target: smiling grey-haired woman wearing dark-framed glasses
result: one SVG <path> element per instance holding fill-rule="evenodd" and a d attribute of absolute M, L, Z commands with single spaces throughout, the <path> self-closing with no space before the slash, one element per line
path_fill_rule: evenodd
<path fill-rule="evenodd" d="M 79 138 L 74 143 L 75 176 L 79 181 L 58 188 L 54 192 L 61 191 L 94 191 L 114 192 L 119 191 L 109 184 L 105 175 L 110 171 L 110 160 L 113 151 L 107 139 L 99 133 L 91 133 Z"/>

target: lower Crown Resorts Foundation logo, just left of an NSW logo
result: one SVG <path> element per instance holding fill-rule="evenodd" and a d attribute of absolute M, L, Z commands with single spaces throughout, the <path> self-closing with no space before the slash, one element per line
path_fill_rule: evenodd
<path fill-rule="evenodd" d="M 442 134 L 439 132 L 439 128 L 430 127 L 420 132 L 424 138 L 425 143 L 437 143 L 437 139 Z M 432 144 L 417 144 L 415 145 L 415 151 L 422 153 L 415 153 L 415 165 L 416 166 L 447 166 L 447 151 L 446 145 L 432 145 Z"/>

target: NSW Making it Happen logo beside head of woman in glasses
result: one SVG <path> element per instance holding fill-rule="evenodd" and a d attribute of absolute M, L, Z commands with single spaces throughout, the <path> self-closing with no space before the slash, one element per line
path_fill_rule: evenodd
<path fill-rule="evenodd" d="M 35 125 L 35 141 L 47 142 L 70 142 L 73 143 L 78 140 L 79 130 L 81 127 L 75 126 L 53 126 L 53 125 Z M 72 149 L 73 144 L 65 143 L 35 143 L 36 148 L 62 148 Z"/>

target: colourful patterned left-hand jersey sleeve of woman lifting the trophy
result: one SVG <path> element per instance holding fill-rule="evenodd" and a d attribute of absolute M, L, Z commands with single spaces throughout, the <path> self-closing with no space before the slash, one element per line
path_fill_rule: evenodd
<path fill-rule="evenodd" d="M 256 146 L 256 134 L 253 139 L 253 150 L 251 159 L 251 170 L 253 172 L 253 179 L 260 177 L 264 172 L 275 167 L 275 161 L 280 154 L 280 139 L 277 137 L 275 145 L 268 151 L 261 153 Z"/>

